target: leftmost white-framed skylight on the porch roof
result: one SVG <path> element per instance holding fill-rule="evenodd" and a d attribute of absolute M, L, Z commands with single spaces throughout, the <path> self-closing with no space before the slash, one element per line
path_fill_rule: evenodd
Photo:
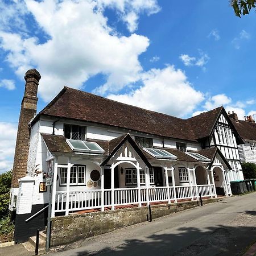
<path fill-rule="evenodd" d="M 75 152 L 104 154 L 105 150 L 96 142 L 75 141 L 75 139 L 67 139 L 68 146 Z"/>

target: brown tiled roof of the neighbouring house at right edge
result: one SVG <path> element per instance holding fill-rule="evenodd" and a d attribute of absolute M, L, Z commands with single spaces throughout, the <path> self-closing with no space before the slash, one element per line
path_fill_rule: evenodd
<path fill-rule="evenodd" d="M 238 120 L 238 122 L 236 122 L 233 119 L 232 123 L 234 127 L 236 127 L 242 139 L 256 141 L 256 123 L 243 120 Z"/>

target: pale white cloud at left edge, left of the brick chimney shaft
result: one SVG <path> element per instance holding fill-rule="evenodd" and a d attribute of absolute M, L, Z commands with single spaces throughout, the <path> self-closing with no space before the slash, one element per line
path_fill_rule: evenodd
<path fill-rule="evenodd" d="M 0 123 L 0 174 L 13 168 L 16 125 Z"/>

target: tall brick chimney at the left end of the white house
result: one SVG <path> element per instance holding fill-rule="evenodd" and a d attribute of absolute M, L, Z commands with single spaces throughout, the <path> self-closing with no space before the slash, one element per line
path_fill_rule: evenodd
<path fill-rule="evenodd" d="M 28 123 L 36 114 L 38 84 L 40 78 L 41 76 L 36 69 L 28 70 L 24 77 L 26 84 L 19 115 L 11 188 L 18 188 L 18 179 L 27 174 L 27 160 L 30 144 L 30 129 Z"/>

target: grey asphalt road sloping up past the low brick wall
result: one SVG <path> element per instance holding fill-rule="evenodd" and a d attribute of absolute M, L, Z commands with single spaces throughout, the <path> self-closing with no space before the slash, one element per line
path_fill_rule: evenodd
<path fill-rule="evenodd" d="M 89 238 L 50 255 L 242 255 L 256 241 L 256 193 Z"/>

